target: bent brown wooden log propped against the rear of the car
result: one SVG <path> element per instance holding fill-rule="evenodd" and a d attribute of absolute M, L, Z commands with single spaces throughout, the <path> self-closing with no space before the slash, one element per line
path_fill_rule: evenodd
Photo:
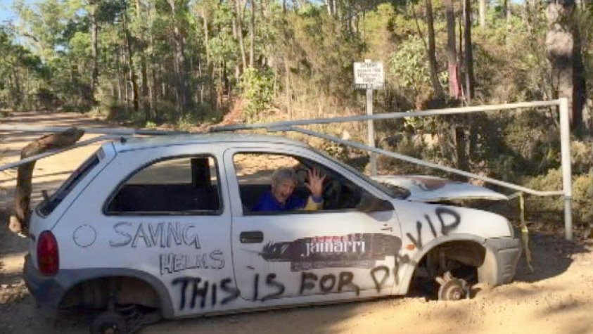
<path fill-rule="evenodd" d="M 20 151 L 20 159 L 44 153 L 48 150 L 65 148 L 76 143 L 84 130 L 72 127 L 57 134 L 48 134 L 28 144 Z M 33 168 L 35 161 L 18 167 L 14 197 L 15 216 L 10 217 L 8 229 L 14 233 L 28 234 L 29 205 L 31 200 Z"/>

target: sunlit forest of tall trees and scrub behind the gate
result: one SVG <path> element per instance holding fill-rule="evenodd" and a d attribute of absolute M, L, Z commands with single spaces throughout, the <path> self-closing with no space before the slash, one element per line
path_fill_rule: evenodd
<path fill-rule="evenodd" d="M 593 224 L 591 0 L 15 0 L 13 10 L 18 19 L 0 23 L 0 110 L 11 113 L 89 113 L 149 129 L 364 115 L 353 85 L 364 59 L 385 70 L 375 113 L 566 97 L 575 219 Z M 317 129 L 366 141 L 362 123 Z M 550 108 L 376 122 L 376 145 L 561 187 Z M 387 158 L 379 169 L 439 174 Z M 528 198 L 532 216 L 562 209 L 558 198 Z"/>

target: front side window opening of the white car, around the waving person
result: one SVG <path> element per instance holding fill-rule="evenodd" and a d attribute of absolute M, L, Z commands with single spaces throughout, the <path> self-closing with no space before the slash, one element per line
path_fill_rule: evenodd
<path fill-rule="evenodd" d="M 293 169 L 295 172 L 298 182 L 292 197 L 297 198 L 300 203 L 306 203 L 310 196 L 310 191 L 305 185 L 307 169 L 317 169 L 325 176 L 322 204 L 319 210 L 353 210 L 359 204 L 362 195 L 366 193 L 364 189 L 333 169 L 300 156 L 280 153 L 236 153 L 233 160 L 243 214 L 295 213 L 295 210 L 265 212 L 257 209 L 260 207 L 258 205 L 260 201 L 273 200 L 269 197 L 272 195 L 272 174 L 281 168 Z"/>

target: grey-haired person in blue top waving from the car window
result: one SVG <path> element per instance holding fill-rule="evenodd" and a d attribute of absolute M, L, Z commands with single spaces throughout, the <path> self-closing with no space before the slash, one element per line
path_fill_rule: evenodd
<path fill-rule="evenodd" d="M 318 210 L 321 207 L 321 192 L 325 176 L 321 176 L 316 169 L 307 169 L 308 183 L 305 186 L 311 192 L 307 200 L 293 194 L 298 179 L 292 168 L 279 168 L 272 174 L 272 189 L 264 193 L 257 201 L 253 211 L 288 211 L 288 210 Z"/>

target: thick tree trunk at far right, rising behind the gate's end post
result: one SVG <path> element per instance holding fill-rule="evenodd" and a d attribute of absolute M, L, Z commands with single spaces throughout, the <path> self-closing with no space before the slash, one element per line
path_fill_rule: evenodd
<path fill-rule="evenodd" d="M 568 98 L 572 129 L 581 126 L 582 101 L 578 92 L 584 88 L 576 84 L 580 74 L 575 72 L 575 66 L 580 64 L 577 64 L 579 60 L 575 56 L 580 55 L 580 50 L 576 50 L 574 32 L 570 27 L 570 15 L 574 8 L 574 0 L 551 0 L 546 9 L 546 51 L 551 63 L 551 83 L 554 95 Z M 578 97 L 578 101 L 575 97 Z"/>

